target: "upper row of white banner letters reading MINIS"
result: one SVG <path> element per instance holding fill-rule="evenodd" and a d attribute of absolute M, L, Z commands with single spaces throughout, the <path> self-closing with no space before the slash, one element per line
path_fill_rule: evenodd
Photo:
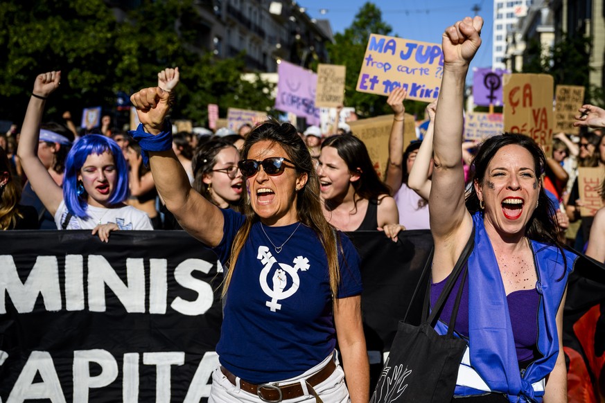
<path fill-rule="evenodd" d="M 88 256 L 88 276 L 84 279 L 84 257 L 65 256 L 65 309 L 85 310 L 85 287 L 88 290 L 88 309 L 91 312 L 105 312 L 105 287 L 108 287 L 129 313 L 145 313 L 145 268 L 143 258 L 126 259 L 125 284 L 116 270 L 103 256 Z M 168 262 L 166 259 L 149 260 L 149 313 L 166 314 L 168 304 Z M 62 309 L 60 267 L 57 256 L 37 256 L 25 282 L 21 282 L 15 260 L 11 255 L 0 255 L 0 314 L 6 314 L 6 295 L 19 314 L 33 312 L 38 296 L 42 295 L 44 309 L 57 312 Z M 193 277 L 194 271 L 209 274 L 213 264 L 202 259 L 187 259 L 179 263 L 174 271 L 176 282 L 198 294 L 194 301 L 186 301 L 177 296 L 170 307 L 188 316 L 203 315 L 214 300 L 212 287 L 204 280 Z M 85 283 L 86 282 L 86 283 Z M 0 402 L 1 403 L 1 402 Z"/>

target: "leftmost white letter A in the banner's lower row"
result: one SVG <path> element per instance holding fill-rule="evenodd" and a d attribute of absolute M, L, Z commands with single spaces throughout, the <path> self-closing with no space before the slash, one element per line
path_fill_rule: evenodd
<path fill-rule="evenodd" d="M 42 382 L 34 383 L 38 373 Z M 52 403 L 67 403 L 49 352 L 31 352 L 17 382 L 12 386 L 6 403 L 22 403 L 29 399 L 49 399 Z"/>

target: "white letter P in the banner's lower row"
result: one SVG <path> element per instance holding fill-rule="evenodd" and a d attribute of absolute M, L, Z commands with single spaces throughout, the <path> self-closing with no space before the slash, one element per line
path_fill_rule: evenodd
<path fill-rule="evenodd" d="M 99 375 L 90 375 L 90 363 L 101 367 Z M 73 401 L 88 402 L 92 388 L 103 388 L 118 377 L 118 363 L 107 350 L 76 350 L 73 352 Z"/>

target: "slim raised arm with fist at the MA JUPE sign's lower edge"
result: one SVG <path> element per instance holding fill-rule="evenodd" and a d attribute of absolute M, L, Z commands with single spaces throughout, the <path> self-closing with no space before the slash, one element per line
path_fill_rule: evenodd
<path fill-rule="evenodd" d="M 393 126 L 389 136 L 389 163 L 387 164 L 387 174 L 385 183 L 391 188 L 391 196 L 395 195 L 401 188 L 403 179 L 403 117 L 405 116 L 405 107 L 403 100 L 407 96 L 407 91 L 403 88 L 396 88 L 387 98 L 387 104 L 395 112 Z"/>

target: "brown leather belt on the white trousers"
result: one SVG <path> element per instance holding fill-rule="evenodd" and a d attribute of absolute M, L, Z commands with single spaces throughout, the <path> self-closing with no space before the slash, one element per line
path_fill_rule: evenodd
<path fill-rule="evenodd" d="M 310 386 L 316 386 L 324 382 L 336 369 L 334 360 L 331 360 L 324 368 L 317 371 L 306 379 L 306 383 Z M 224 366 L 220 366 L 220 372 L 225 375 L 231 384 L 236 385 L 236 376 L 227 370 Z M 240 388 L 243 391 L 258 395 L 265 402 L 281 402 L 282 400 L 294 399 L 295 397 L 304 396 L 305 393 L 300 382 L 277 386 L 276 384 L 255 385 L 240 379 Z"/>

